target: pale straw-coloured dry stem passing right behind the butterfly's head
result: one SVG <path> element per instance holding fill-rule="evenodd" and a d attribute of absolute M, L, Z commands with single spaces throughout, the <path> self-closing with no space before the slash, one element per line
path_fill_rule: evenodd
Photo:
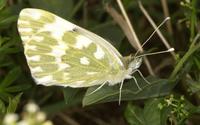
<path fill-rule="evenodd" d="M 126 23 L 127 23 L 127 25 L 128 25 L 128 28 L 129 28 L 129 30 L 131 31 L 131 35 L 132 35 L 132 37 L 134 38 L 134 41 L 130 41 L 130 43 L 131 43 L 131 42 L 134 42 L 134 43 L 136 44 L 136 46 L 137 46 L 136 49 L 139 49 L 140 52 L 143 52 L 143 48 L 141 47 L 141 44 L 140 44 L 140 42 L 139 42 L 139 39 L 138 39 L 138 37 L 137 37 L 137 35 L 136 35 L 134 29 L 133 29 L 133 26 L 131 25 L 131 22 L 130 22 L 130 20 L 129 20 L 127 14 L 126 14 L 126 11 L 125 11 L 125 9 L 124 9 L 124 7 L 123 7 L 123 4 L 122 4 L 121 0 L 117 0 L 117 3 L 118 3 L 118 5 L 119 5 L 119 7 L 120 7 L 120 10 L 121 10 L 121 12 L 122 12 L 122 14 L 123 14 L 123 16 L 124 16 L 124 19 L 125 19 Z M 127 36 L 127 37 L 128 37 L 128 36 Z M 132 43 L 132 44 L 133 44 L 133 43 Z M 151 65 L 150 65 L 150 62 L 149 62 L 148 59 L 147 59 L 147 57 L 144 57 L 144 62 L 145 62 L 145 64 L 146 64 L 146 66 L 147 66 L 147 69 L 148 69 L 149 73 L 150 73 L 151 75 L 155 75 L 154 72 L 153 72 L 153 70 L 152 70 L 152 67 L 151 67 Z"/>

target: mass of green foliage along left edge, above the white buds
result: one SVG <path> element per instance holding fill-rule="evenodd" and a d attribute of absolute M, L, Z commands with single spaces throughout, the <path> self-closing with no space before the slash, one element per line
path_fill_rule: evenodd
<path fill-rule="evenodd" d="M 28 84 L 18 84 L 22 69 L 17 64 L 16 56 L 20 53 L 16 31 L 12 25 L 17 20 L 7 0 L 0 1 L 0 113 L 15 112 L 22 95 L 21 92 L 30 87 Z M 11 35 L 13 34 L 13 35 Z M 13 36 L 13 37 L 12 37 Z M 16 37 L 16 38 L 15 38 Z M 14 55 L 13 55 L 14 54 Z M 15 58 L 15 59 L 14 59 Z M 18 81 L 18 82 L 17 82 Z"/>

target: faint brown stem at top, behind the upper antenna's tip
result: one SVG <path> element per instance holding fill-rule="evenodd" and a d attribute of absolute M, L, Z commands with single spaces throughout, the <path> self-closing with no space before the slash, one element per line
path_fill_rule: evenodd
<path fill-rule="evenodd" d="M 162 4 L 162 8 L 163 8 L 163 12 L 166 17 L 169 17 L 169 9 L 168 9 L 168 5 L 167 5 L 167 0 L 161 0 L 161 4 Z M 172 30 L 172 24 L 171 21 L 169 20 L 168 22 L 166 22 L 167 25 L 167 30 L 168 32 L 172 35 L 173 34 L 173 30 Z"/>

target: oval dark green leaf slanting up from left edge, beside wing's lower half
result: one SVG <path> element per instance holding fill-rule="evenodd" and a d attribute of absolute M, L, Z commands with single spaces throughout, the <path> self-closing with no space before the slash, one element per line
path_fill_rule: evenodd
<path fill-rule="evenodd" d="M 13 68 L 0 84 L 0 88 L 6 88 L 14 83 L 14 81 L 21 75 L 20 67 Z"/>

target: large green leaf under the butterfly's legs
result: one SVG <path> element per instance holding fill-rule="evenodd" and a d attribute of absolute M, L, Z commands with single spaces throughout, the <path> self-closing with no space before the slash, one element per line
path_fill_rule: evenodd
<path fill-rule="evenodd" d="M 139 91 L 134 80 L 129 80 L 129 82 L 124 83 L 123 85 L 122 100 L 138 100 L 160 97 L 168 95 L 174 88 L 174 84 L 164 79 L 148 79 L 148 81 L 151 82 L 150 85 L 139 77 L 137 77 L 137 81 L 142 90 Z M 90 94 L 97 87 L 98 86 L 88 88 L 86 95 L 83 98 L 83 106 L 119 100 L 119 85 L 105 85 L 97 92 Z"/>

